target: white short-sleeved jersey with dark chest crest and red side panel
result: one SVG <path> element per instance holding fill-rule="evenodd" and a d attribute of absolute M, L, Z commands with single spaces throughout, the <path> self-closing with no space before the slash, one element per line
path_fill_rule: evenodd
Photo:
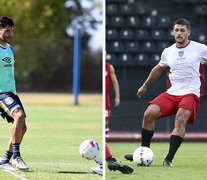
<path fill-rule="evenodd" d="M 200 97 L 204 88 L 204 64 L 207 63 L 207 46 L 189 41 L 183 48 L 176 44 L 164 49 L 159 65 L 169 67 L 170 87 L 167 93 L 171 95 L 195 94 Z"/>

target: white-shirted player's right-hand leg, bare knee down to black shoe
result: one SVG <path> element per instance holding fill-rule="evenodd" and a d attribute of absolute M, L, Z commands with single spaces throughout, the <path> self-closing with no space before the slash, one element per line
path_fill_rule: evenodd
<path fill-rule="evenodd" d="M 191 112 L 185 108 L 178 109 L 175 117 L 175 126 L 170 137 L 170 148 L 169 152 L 163 162 L 163 166 L 172 166 L 172 160 L 175 153 L 180 147 L 183 138 L 185 136 L 185 127 L 191 116 Z"/>

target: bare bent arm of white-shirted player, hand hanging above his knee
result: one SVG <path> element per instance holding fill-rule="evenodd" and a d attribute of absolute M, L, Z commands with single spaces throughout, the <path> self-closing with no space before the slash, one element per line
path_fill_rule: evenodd
<path fill-rule="evenodd" d="M 138 89 L 137 91 L 137 96 L 139 98 L 141 98 L 141 96 L 143 94 L 145 94 L 145 92 L 147 91 L 147 87 L 154 82 L 155 80 L 157 80 L 160 75 L 162 74 L 162 72 L 166 69 L 166 67 L 161 67 L 159 64 L 157 64 L 152 71 L 150 72 L 147 80 L 144 82 L 144 84 Z"/>

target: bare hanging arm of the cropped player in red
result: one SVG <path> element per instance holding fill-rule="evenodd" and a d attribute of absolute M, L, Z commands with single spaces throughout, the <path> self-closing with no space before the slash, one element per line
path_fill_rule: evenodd
<path fill-rule="evenodd" d="M 112 65 L 110 65 L 110 77 L 115 92 L 114 105 L 117 107 L 120 104 L 119 83 L 116 78 L 114 67 Z"/>

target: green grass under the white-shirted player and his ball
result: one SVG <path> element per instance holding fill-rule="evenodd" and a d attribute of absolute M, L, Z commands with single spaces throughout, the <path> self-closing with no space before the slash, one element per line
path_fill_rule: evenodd
<path fill-rule="evenodd" d="M 134 162 L 124 159 L 125 153 L 133 152 L 139 144 L 136 143 L 109 143 L 114 156 L 123 163 L 134 168 L 129 175 L 106 170 L 106 179 L 112 180 L 207 180 L 207 144 L 183 143 L 173 160 L 174 167 L 163 167 L 162 163 L 168 152 L 168 143 L 152 143 L 154 162 L 149 167 L 138 167 Z"/>

